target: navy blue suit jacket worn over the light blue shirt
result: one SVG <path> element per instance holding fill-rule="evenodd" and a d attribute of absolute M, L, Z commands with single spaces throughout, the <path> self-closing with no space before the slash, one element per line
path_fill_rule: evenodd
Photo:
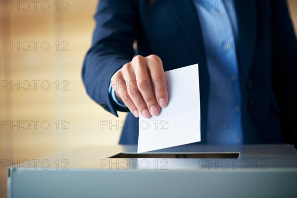
<path fill-rule="evenodd" d="M 245 144 L 297 144 L 297 41 L 285 0 L 234 0 Z M 117 116 L 111 76 L 135 54 L 158 55 L 164 70 L 199 64 L 201 143 L 205 143 L 209 76 L 192 0 L 100 0 L 82 76 L 87 93 Z M 133 42 L 137 40 L 137 52 Z M 205 124 L 203 124 L 205 123 Z M 185 123 L 186 124 L 186 123 Z M 131 112 L 120 144 L 137 144 Z"/>

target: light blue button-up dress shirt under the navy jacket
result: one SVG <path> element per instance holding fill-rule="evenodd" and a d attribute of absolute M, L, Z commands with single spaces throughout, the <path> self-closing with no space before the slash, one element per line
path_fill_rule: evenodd
<path fill-rule="evenodd" d="M 235 40 L 238 27 L 233 0 L 193 0 L 201 25 L 210 77 L 207 144 L 243 144 L 241 94 Z M 112 99 L 122 107 L 111 85 Z M 204 122 L 204 121 L 201 121 Z M 201 123 L 200 122 L 200 123 Z"/>

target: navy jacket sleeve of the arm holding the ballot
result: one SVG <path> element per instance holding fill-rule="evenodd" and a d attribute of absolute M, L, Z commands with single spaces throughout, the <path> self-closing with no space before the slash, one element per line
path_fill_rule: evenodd
<path fill-rule="evenodd" d="M 138 18 L 136 0 L 100 0 L 92 47 L 84 60 L 82 78 L 88 95 L 116 116 L 128 109 L 111 99 L 108 87 L 112 75 L 134 56 Z"/>

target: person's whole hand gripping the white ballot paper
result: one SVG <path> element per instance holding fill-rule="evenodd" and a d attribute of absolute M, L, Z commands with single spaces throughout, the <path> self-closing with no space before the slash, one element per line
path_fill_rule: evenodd
<path fill-rule="evenodd" d="M 111 78 L 111 86 L 135 117 L 157 115 L 168 103 L 164 69 L 157 55 L 135 56 Z"/>

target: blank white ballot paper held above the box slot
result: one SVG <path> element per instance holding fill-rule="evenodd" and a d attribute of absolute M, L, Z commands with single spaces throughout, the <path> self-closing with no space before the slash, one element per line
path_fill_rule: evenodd
<path fill-rule="evenodd" d="M 156 116 L 140 115 L 137 152 L 201 141 L 198 64 L 166 71 L 165 79 L 168 104 Z"/>

